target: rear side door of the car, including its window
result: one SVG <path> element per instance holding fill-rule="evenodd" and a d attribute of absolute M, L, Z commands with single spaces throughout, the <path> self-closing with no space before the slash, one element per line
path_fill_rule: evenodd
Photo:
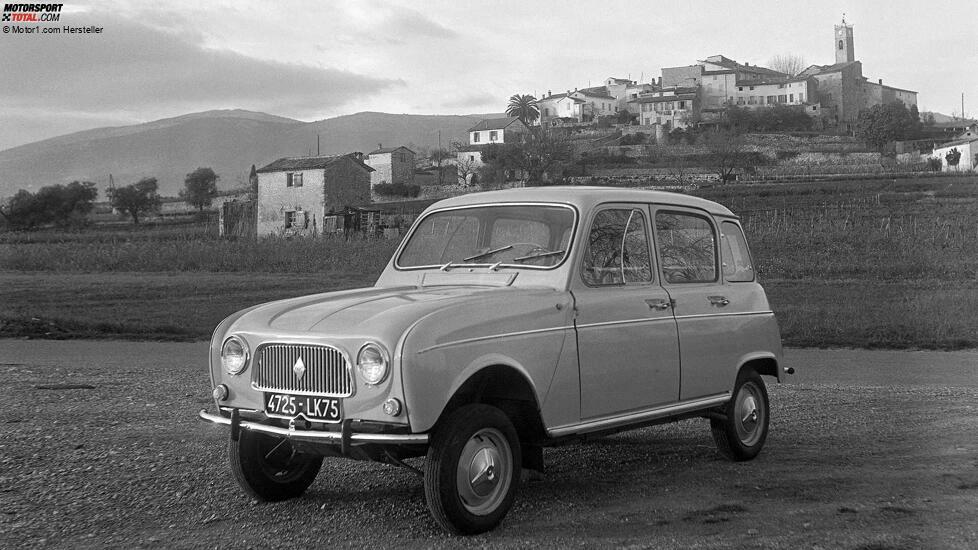
<path fill-rule="evenodd" d="M 735 314 L 744 304 L 721 279 L 716 222 L 707 212 L 674 206 L 654 207 L 653 217 L 660 277 L 679 327 L 680 399 L 729 392 L 742 348 Z"/>

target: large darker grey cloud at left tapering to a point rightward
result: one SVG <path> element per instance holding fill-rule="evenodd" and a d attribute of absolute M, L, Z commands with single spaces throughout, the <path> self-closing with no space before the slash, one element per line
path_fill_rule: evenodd
<path fill-rule="evenodd" d="M 202 44 L 199 33 L 168 32 L 121 18 L 79 14 L 66 24 L 102 34 L 12 36 L 2 40 L 0 101 L 71 111 L 248 107 L 296 116 L 336 109 L 403 86 L 397 79 L 268 61 Z"/>

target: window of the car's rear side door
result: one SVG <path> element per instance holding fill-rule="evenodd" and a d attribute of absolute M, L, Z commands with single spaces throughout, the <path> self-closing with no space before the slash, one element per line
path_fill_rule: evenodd
<path fill-rule="evenodd" d="M 716 236 L 705 217 L 656 212 L 655 233 L 666 282 L 711 283 L 719 278 Z"/>

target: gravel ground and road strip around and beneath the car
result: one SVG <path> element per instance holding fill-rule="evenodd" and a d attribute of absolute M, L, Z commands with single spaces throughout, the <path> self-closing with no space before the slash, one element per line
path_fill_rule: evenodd
<path fill-rule="evenodd" d="M 196 419 L 205 349 L 0 340 L 0 547 L 978 548 L 978 352 L 789 350 L 756 460 L 720 458 L 705 420 L 550 448 L 466 539 L 389 466 L 245 497 Z"/>

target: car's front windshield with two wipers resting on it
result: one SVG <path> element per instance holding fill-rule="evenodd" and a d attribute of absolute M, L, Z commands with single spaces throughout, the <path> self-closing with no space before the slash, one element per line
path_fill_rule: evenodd
<path fill-rule="evenodd" d="M 411 233 L 396 265 L 554 267 L 570 249 L 574 219 L 570 207 L 544 204 L 432 212 Z"/>

